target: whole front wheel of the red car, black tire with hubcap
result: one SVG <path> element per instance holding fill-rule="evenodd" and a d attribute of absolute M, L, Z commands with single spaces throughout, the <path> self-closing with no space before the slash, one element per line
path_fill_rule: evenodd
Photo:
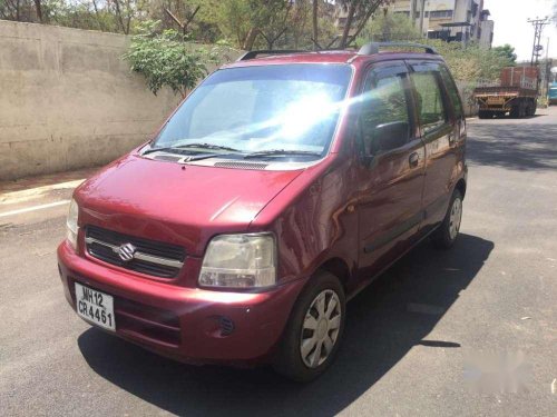
<path fill-rule="evenodd" d="M 324 308 L 321 314 L 317 307 L 322 298 Z M 332 299 L 335 302 L 331 304 Z M 328 314 L 332 319 L 326 318 Z M 341 282 L 330 272 L 317 272 L 304 288 L 291 312 L 273 361 L 275 371 L 299 383 L 309 383 L 322 375 L 336 356 L 345 316 L 346 299 Z M 309 325 L 315 326 L 315 329 L 312 330 Z M 303 344 L 307 346 L 305 356 Z M 317 348 L 320 355 L 316 355 Z"/>

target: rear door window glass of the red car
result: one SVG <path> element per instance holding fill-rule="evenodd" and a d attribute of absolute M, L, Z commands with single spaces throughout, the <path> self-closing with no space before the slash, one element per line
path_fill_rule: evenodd
<path fill-rule="evenodd" d="M 412 72 L 412 81 L 416 87 L 416 106 L 424 133 L 441 126 L 447 120 L 441 88 L 436 72 Z"/>

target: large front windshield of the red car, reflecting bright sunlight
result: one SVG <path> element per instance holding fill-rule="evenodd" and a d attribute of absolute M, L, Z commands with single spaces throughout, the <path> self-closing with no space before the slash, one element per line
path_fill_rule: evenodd
<path fill-rule="evenodd" d="M 321 63 L 219 70 L 184 101 L 152 148 L 319 157 L 334 135 L 351 75 L 348 64 Z"/>

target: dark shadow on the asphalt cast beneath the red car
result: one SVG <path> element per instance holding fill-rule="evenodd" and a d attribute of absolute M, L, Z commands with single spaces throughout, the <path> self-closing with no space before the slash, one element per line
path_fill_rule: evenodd
<path fill-rule="evenodd" d="M 309 385 L 286 381 L 268 368 L 178 364 L 94 328 L 81 334 L 78 344 L 98 375 L 177 415 L 332 416 L 373 386 L 413 346 L 460 348 L 458 340 L 423 338 L 458 300 L 492 249 L 491 241 L 469 235 L 461 235 L 449 251 L 437 251 L 428 242 L 413 249 L 349 302 L 339 357 L 323 377 Z"/>

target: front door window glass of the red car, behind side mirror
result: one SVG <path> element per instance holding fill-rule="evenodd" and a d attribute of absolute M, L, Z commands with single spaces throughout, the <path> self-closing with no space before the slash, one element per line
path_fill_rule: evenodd
<path fill-rule="evenodd" d="M 401 68 L 401 71 L 397 71 Z M 360 133 L 363 151 L 375 155 L 403 146 L 410 136 L 405 68 L 370 72 L 362 95 Z"/>

